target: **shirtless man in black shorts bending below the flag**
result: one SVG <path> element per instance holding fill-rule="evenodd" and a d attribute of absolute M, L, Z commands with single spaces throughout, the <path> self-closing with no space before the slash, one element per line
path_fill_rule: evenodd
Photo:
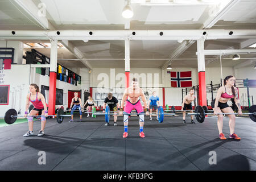
<path fill-rule="evenodd" d="M 190 110 L 190 113 L 193 113 L 192 102 L 194 102 L 194 105 L 196 107 L 196 96 L 194 96 L 193 88 L 189 89 L 189 94 L 187 94 L 187 96 L 184 97 L 183 102 L 182 102 L 181 111 L 183 111 L 183 123 L 186 123 L 186 121 L 185 121 L 186 111 L 185 110 Z M 195 124 L 195 122 L 193 121 L 193 115 L 191 115 L 191 123 Z"/>

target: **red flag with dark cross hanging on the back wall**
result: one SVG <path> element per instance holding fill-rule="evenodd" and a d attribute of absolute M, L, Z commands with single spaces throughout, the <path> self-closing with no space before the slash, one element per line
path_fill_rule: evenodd
<path fill-rule="evenodd" d="M 171 73 L 171 86 L 172 87 L 191 87 L 192 86 L 192 73 L 188 72 L 170 72 Z"/>

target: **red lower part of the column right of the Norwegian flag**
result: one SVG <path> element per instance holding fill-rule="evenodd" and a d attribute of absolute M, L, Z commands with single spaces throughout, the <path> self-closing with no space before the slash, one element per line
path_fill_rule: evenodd
<path fill-rule="evenodd" d="M 207 93 L 205 85 L 205 72 L 201 71 L 198 73 L 199 78 L 199 105 L 207 106 Z"/>

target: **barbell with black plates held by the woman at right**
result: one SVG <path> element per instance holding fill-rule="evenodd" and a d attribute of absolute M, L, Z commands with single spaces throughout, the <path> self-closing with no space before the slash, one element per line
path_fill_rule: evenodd
<path fill-rule="evenodd" d="M 235 114 L 238 113 L 217 113 L 217 114 Z M 256 122 L 256 105 L 252 105 L 249 108 L 249 113 L 243 113 L 244 115 L 249 115 L 250 119 Z M 196 106 L 195 113 L 188 113 L 188 115 L 195 115 L 196 120 L 200 123 L 204 122 L 205 115 L 213 115 L 213 113 L 205 113 L 202 106 Z"/>

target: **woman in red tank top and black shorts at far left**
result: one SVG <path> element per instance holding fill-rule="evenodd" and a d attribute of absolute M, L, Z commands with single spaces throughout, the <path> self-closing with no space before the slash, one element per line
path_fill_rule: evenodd
<path fill-rule="evenodd" d="M 30 106 L 30 102 L 34 105 L 34 108 L 27 113 L 28 107 Z M 42 136 L 44 134 L 44 128 L 46 127 L 46 117 L 48 116 L 48 105 L 46 104 L 46 99 L 43 94 L 39 92 L 39 86 L 36 84 L 30 84 L 30 93 L 27 94 L 26 101 L 26 109 L 24 117 L 27 117 L 28 120 L 28 132 L 23 135 L 23 137 L 29 137 L 33 135 L 33 117 L 32 115 L 36 115 L 39 111 L 42 111 L 41 116 L 41 130 L 38 133 L 38 136 Z"/>

